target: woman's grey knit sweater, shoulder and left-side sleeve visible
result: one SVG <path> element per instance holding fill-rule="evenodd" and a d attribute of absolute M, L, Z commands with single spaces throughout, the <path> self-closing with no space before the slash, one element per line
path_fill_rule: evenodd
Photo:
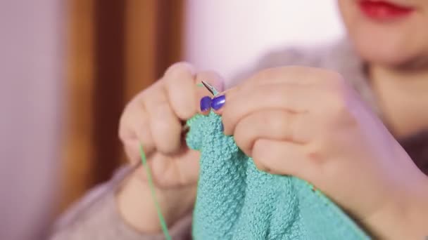
<path fill-rule="evenodd" d="M 360 93 L 361 98 L 371 106 L 373 111 L 379 114 L 376 99 L 367 84 L 363 62 L 355 55 L 347 41 L 325 48 L 306 50 L 286 49 L 275 51 L 265 55 L 256 67 L 251 71 L 241 74 L 237 79 L 245 79 L 246 76 L 260 69 L 279 67 L 284 65 L 303 65 L 309 67 L 322 67 L 332 69 L 351 82 Z M 238 81 L 232 82 L 231 86 Z M 428 134 L 418 133 L 410 138 L 400 141 L 401 145 L 410 154 L 417 166 L 427 173 L 428 170 Z M 149 240 L 163 239 L 163 235 L 146 235 L 136 232 L 127 226 L 120 218 L 115 203 L 115 191 L 122 180 L 132 171 L 132 168 L 124 168 L 115 173 L 112 180 L 95 187 L 72 206 L 57 222 L 52 229 L 51 239 L 103 239 L 103 240 Z M 170 229 L 172 239 L 191 239 L 191 215 L 182 218 Z"/>

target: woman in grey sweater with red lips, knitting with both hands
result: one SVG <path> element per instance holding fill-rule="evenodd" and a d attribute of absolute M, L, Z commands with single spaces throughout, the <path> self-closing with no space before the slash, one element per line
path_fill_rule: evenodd
<path fill-rule="evenodd" d="M 132 164 L 143 142 L 173 239 L 189 238 L 198 176 L 182 121 L 210 108 L 258 168 L 312 182 L 372 236 L 428 236 L 428 1 L 339 0 L 339 8 L 348 40 L 271 53 L 211 105 L 199 102 L 207 92 L 196 83 L 222 89 L 222 79 L 186 63 L 127 105 L 120 139 Z M 162 239 L 141 167 L 89 193 L 52 238 L 79 237 Z"/>

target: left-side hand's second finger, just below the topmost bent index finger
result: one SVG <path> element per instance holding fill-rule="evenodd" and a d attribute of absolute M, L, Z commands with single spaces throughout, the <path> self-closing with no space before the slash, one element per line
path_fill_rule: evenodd
<path fill-rule="evenodd" d="M 145 96 L 144 104 L 149 114 L 149 128 L 156 149 L 172 154 L 180 149 L 182 124 L 172 110 L 164 88 Z"/>

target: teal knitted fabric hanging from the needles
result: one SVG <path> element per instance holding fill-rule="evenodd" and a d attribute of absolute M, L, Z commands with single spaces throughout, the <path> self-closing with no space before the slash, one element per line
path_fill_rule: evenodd
<path fill-rule="evenodd" d="M 201 152 L 194 239 L 370 239 L 307 182 L 258 171 L 217 114 L 187 124 L 187 145 Z"/>

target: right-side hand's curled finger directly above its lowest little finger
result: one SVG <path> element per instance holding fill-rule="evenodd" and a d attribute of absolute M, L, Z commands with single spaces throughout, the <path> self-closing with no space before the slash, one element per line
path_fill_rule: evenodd
<path fill-rule="evenodd" d="M 258 139 L 289 141 L 303 145 L 308 142 L 311 126 L 306 114 L 267 109 L 245 116 L 235 128 L 234 140 L 248 156 L 252 156 L 254 142 Z"/>

